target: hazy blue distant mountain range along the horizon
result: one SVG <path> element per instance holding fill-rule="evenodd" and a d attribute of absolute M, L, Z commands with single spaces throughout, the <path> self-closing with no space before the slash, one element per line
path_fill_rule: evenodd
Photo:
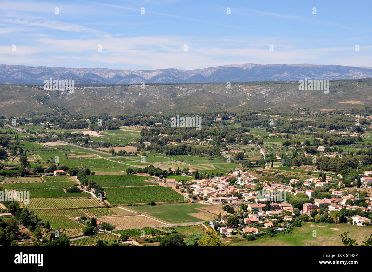
<path fill-rule="evenodd" d="M 298 81 L 300 79 L 372 78 L 372 68 L 314 64 L 231 64 L 195 70 L 120 70 L 0 64 L 0 83 L 43 83 L 45 79 L 74 79 L 75 84 L 133 84 L 186 82 Z"/>

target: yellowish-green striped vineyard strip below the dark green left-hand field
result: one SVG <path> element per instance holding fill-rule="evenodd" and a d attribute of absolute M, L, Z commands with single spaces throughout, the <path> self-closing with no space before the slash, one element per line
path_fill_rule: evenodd
<path fill-rule="evenodd" d="M 88 208 L 103 206 L 97 199 L 30 199 L 29 204 L 21 202 L 22 206 L 28 209 L 52 209 L 52 208 Z"/>

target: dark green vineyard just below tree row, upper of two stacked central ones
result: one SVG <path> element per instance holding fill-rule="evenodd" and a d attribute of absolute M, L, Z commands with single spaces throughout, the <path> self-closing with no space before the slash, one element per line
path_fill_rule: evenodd
<path fill-rule="evenodd" d="M 89 178 L 96 181 L 96 183 L 102 187 L 158 185 L 157 182 L 145 181 L 145 180 L 155 180 L 155 178 L 151 176 L 99 175 L 99 176 L 90 176 Z"/>

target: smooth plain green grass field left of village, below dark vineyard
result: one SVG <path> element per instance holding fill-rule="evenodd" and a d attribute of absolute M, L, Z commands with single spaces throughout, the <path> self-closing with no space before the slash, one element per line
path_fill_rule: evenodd
<path fill-rule="evenodd" d="M 143 213 L 148 216 L 156 217 L 159 220 L 164 220 L 168 223 L 188 223 L 203 221 L 197 217 L 191 216 L 192 213 L 200 213 L 200 210 L 194 209 L 205 207 L 199 203 L 172 203 L 156 206 L 132 206 L 130 210 Z"/>

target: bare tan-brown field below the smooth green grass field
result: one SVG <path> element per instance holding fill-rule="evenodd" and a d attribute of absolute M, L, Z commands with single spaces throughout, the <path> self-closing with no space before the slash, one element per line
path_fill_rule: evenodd
<path fill-rule="evenodd" d="M 150 219 L 143 215 L 137 216 L 120 216 L 120 217 L 99 217 L 102 222 L 110 223 L 116 227 L 116 229 L 131 229 L 133 227 L 153 227 L 164 225 L 154 219 Z"/>

